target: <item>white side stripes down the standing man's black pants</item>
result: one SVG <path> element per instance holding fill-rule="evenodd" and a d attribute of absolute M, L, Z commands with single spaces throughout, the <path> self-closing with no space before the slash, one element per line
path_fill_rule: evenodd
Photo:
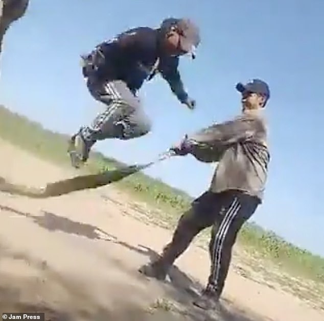
<path fill-rule="evenodd" d="M 228 231 L 230 226 L 235 219 L 237 213 L 241 208 L 241 204 L 239 203 L 237 197 L 235 197 L 232 204 L 229 206 L 221 225 L 219 226 L 218 232 L 214 239 L 214 246 L 213 246 L 213 257 L 212 257 L 212 279 L 216 282 L 219 278 L 219 271 L 221 267 L 221 256 L 223 251 L 224 241 L 227 237 Z"/>

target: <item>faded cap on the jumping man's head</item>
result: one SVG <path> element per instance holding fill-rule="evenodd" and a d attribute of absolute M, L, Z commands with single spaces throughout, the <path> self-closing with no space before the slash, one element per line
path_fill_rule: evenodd
<path fill-rule="evenodd" d="M 180 35 L 180 47 L 186 53 L 195 58 L 195 51 L 200 43 L 200 32 L 196 24 L 187 18 L 168 18 L 162 22 L 161 28 L 174 30 Z"/>

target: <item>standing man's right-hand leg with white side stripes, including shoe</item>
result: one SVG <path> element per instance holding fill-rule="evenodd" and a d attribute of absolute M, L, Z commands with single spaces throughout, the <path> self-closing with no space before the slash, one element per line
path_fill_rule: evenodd
<path fill-rule="evenodd" d="M 213 225 L 210 241 L 211 274 L 201 297 L 194 302 L 196 306 L 206 310 L 217 307 L 238 232 L 260 203 L 256 197 L 241 192 L 228 191 L 220 195 L 222 206 Z"/>

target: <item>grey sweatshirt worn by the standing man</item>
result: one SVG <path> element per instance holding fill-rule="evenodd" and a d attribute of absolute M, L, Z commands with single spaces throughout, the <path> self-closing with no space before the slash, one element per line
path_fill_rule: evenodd
<path fill-rule="evenodd" d="M 262 202 L 270 154 L 261 111 L 245 111 L 233 120 L 203 129 L 188 138 L 191 154 L 218 162 L 210 190 L 240 190 Z"/>

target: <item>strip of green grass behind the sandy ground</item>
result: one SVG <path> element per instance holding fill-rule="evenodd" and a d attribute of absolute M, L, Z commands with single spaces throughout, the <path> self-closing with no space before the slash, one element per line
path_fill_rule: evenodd
<path fill-rule="evenodd" d="M 45 130 L 36 122 L 12 113 L 2 106 L 0 106 L 0 137 L 40 158 L 60 165 L 70 165 L 66 155 L 67 135 Z M 121 163 L 106 158 L 101 153 L 93 153 L 87 168 L 90 172 L 95 172 L 103 167 L 115 168 L 119 164 Z M 179 213 L 187 209 L 192 201 L 183 191 L 141 172 L 125 178 L 116 185 L 142 201 L 168 212 L 166 217 L 172 216 L 172 225 Z M 271 259 L 295 275 L 324 283 L 324 258 L 297 248 L 271 231 L 265 231 L 253 223 L 246 224 L 239 234 L 238 242 L 250 253 Z"/>

